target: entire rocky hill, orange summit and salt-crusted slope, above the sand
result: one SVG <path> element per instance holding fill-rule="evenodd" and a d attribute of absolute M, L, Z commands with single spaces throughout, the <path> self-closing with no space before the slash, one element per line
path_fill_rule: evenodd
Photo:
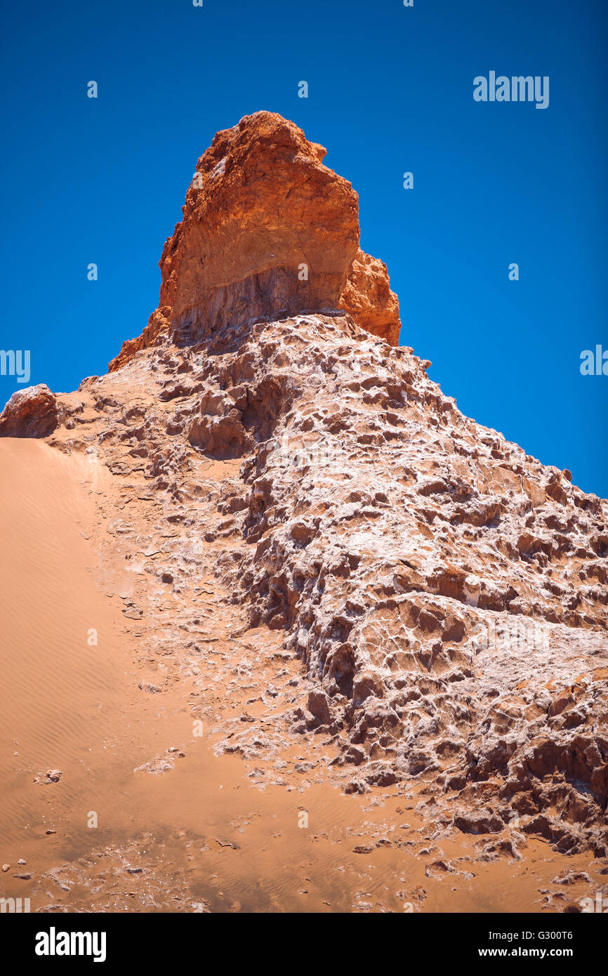
<path fill-rule="evenodd" d="M 608 856 L 608 503 L 394 346 L 385 266 L 358 250 L 324 151 L 267 112 L 220 133 L 142 337 L 53 409 L 23 391 L 0 431 L 145 487 L 155 528 L 126 521 L 116 545 L 162 553 L 149 618 L 159 586 L 185 600 L 210 560 L 302 662 L 277 737 L 326 734 L 346 792 L 416 779 L 438 832 Z M 225 748 L 254 756 L 255 735 Z"/>

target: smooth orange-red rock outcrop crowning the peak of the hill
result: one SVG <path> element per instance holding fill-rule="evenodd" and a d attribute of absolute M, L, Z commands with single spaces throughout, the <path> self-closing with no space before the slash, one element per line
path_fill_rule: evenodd
<path fill-rule="evenodd" d="M 183 219 L 160 260 L 159 307 L 109 369 L 169 333 L 200 341 L 223 326 L 344 308 L 395 345 L 385 264 L 359 250 L 358 198 L 293 122 L 256 112 L 218 133 L 196 164 Z"/>

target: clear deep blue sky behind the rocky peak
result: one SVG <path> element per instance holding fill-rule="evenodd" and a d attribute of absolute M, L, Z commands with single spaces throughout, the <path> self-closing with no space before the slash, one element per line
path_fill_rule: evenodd
<path fill-rule="evenodd" d="M 608 348 L 607 22 L 605 0 L 5 5 L 0 348 L 55 390 L 105 372 L 157 304 L 196 159 L 270 109 L 358 191 L 401 343 L 466 414 L 608 496 L 608 377 L 579 370 Z M 549 107 L 473 102 L 490 70 L 548 75 Z M 0 405 L 17 388 L 0 377 Z"/>

